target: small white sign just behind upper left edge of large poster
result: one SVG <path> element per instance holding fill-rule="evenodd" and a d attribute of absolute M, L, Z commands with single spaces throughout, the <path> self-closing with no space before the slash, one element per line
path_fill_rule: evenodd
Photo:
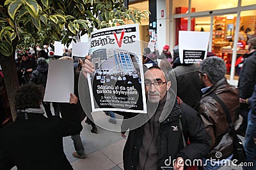
<path fill-rule="evenodd" d="M 84 60 L 85 56 L 89 52 L 89 43 L 88 42 L 77 42 L 72 46 L 72 58 L 74 60 Z"/>

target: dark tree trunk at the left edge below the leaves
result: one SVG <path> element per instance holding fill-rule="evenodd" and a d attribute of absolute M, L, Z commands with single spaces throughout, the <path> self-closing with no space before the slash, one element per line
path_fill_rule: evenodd
<path fill-rule="evenodd" d="M 19 89 L 19 80 L 17 75 L 17 69 L 15 64 L 15 49 L 17 45 L 17 39 L 13 39 L 13 53 L 9 57 L 3 55 L 0 56 L 0 65 L 2 67 L 4 75 L 4 84 L 7 90 L 8 100 L 10 103 L 10 108 L 12 110 L 12 118 L 15 121 L 16 111 L 15 111 L 15 91 Z"/>

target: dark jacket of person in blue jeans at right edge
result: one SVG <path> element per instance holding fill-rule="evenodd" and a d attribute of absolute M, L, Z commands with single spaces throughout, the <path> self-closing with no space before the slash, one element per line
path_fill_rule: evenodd
<path fill-rule="evenodd" d="M 248 99 L 253 93 L 256 84 L 256 52 L 248 53 L 239 74 L 239 97 Z"/>

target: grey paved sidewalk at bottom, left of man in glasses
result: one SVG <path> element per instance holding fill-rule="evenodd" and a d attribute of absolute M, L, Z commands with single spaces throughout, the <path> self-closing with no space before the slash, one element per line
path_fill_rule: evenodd
<path fill-rule="evenodd" d="M 87 157 L 77 159 L 72 156 L 75 152 L 74 144 L 70 136 L 63 138 L 64 152 L 75 170 L 100 169 L 120 170 L 123 168 L 123 150 L 126 139 L 120 133 L 106 131 L 97 127 L 98 134 L 91 132 L 92 126 L 83 121 L 81 139 Z"/>

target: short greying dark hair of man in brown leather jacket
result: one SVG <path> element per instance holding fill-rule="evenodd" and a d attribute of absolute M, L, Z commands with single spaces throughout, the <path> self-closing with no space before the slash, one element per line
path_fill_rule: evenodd
<path fill-rule="evenodd" d="M 207 74 L 212 84 L 225 78 L 227 71 L 226 64 L 220 57 L 209 57 L 200 63 L 200 72 Z"/>

